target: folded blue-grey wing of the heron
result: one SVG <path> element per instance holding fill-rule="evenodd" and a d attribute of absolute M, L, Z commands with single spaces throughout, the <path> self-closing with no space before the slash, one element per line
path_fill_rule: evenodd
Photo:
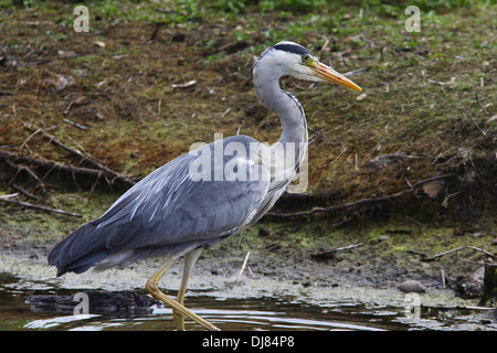
<path fill-rule="evenodd" d="M 224 140 L 245 145 L 255 141 L 243 136 Z M 213 147 L 204 147 L 204 153 L 212 157 Z M 245 161 L 237 167 L 246 167 L 246 178 L 234 181 L 214 178 L 216 169 L 224 171 L 232 160 L 226 157 L 220 165 L 211 159 L 210 168 L 204 168 L 208 173 L 203 176 L 208 178 L 200 180 L 192 178 L 191 168 L 199 156 L 187 153 L 162 165 L 128 190 L 99 218 L 59 244 L 49 255 L 49 263 L 57 266 L 59 276 L 85 271 L 115 254 L 123 254 L 123 258 L 115 256 L 118 264 L 110 261 L 107 267 L 124 266 L 138 258 L 210 245 L 236 233 L 257 214 L 269 185 L 264 167 L 239 157 Z"/>

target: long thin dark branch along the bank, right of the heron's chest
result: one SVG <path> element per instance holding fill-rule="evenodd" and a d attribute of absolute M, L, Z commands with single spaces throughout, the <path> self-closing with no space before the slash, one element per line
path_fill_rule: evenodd
<path fill-rule="evenodd" d="M 349 208 L 349 207 L 353 207 L 353 206 L 358 206 L 361 204 L 367 204 L 367 203 L 377 203 L 377 202 L 382 202 L 382 201 L 389 201 L 389 200 L 393 200 L 393 199 L 398 199 L 401 197 L 405 194 L 410 194 L 410 193 L 414 193 L 421 185 L 435 181 L 435 180 L 440 180 L 440 179 L 447 179 L 447 178 L 453 178 L 455 174 L 451 173 L 451 174 L 442 174 L 442 175 L 436 175 L 436 176 L 432 176 L 432 178 L 427 178 L 424 180 L 420 180 L 417 182 L 415 182 L 411 189 L 401 191 L 401 192 L 396 192 L 394 194 L 390 194 L 390 195 L 385 195 L 385 196 L 378 196 L 378 197 L 368 197 L 368 199 L 362 199 L 362 200 L 358 200 L 355 202 L 349 202 L 349 203 L 343 203 L 340 205 L 335 205 L 335 206 L 329 206 L 329 207 L 315 207 L 313 210 L 309 211 L 302 211 L 302 212 L 294 212 L 294 213 L 275 213 L 275 212 L 269 212 L 266 213 L 267 216 L 271 217 L 281 217 L 281 218 L 287 218 L 287 217 L 303 217 L 303 216 L 310 216 L 314 214 L 318 214 L 318 213 L 332 213 L 336 211 L 340 211 L 343 208 Z"/>

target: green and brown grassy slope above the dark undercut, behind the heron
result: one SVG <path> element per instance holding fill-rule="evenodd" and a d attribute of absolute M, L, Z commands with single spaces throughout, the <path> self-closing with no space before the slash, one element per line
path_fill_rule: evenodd
<path fill-rule="evenodd" d="M 241 128 L 273 142 L 279 124 L 260 107 L 251 66 L 267 46 L 292 40 L 338 72 L 368 68 L 351 76 L 367 95 L 362 100 L 341 87 L 283 81 L 307 114 L 311 195 L 343 203 L 467 169 L 496 150 L 496 6 L 416 4 L 419 33 L 405 31 L 406 3 L 393 1 L 87 1 L 91 32 L 76 33 L 74 2 L 14 1 L 12 8 L 1 1 L 0 30 L 9 35 L 0 39 L 8 57 L 0 66 L 0 145 L 78 163 L 38 136 L 27 141 L 21 121 L 54 127 L 51 132 L 71 147 L 140 178 L 214 132 Z M 57 89 L 61 75 L 75 84 Z M 192 79 L 190 88 L 171 87 Z M 373 158 L 393 152 L 413 159 L 368 170 Z M 1 175 L 8 193 L 10 174 L 3 169 Z M 448 206 L 463 201 L 455 196 Z"/>

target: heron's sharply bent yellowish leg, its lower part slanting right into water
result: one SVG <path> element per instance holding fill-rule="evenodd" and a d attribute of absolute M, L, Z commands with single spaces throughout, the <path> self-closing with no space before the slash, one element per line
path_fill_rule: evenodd
<path fill-rule="evenodd" d="M 146 285 L 146 288 L 147 288 L 148 292 L 154 298 L 159 299 L 160 301 L 162 301 L 162 302 L 167 303 L 168 306 L 170 306 L 172 308 L 172 310 L 176 310 L 176 311 L 180 312 L 183 315 L 190 317 L 190 319 L 192 319 L 193 321 L 195 321 L 198 324 L 202 325 L 203 328 L 205 328 L 208 330 L 211 330 L 211 331 L 219 331 L 219 329 L 216 327 L 214 327 L 212 323 L 210 323 L 209 321 L 202 319 L 201 317 L 199 317 L 198 314 L 195 314 L 191 310 L 184 308 L 183 304 L 180 304 L 175 299 L 169 298 L 168 296 L 166 296 L 163 292 L 160 291 L 160 289 L 159 289 L 159 280 L 163 276 L 163 274 L 166 274 L 166 271 L 169 269 L 169 267 L 172 265 L 173 260 L 175 260 L 175 258 L 168 259 L 166 261 L 166 264 L 163 264 L 157 270 L 157 272 L 155 272 L 154 276 L 150 277 L 150 279 L 147 281 L 147 285 Z"/>

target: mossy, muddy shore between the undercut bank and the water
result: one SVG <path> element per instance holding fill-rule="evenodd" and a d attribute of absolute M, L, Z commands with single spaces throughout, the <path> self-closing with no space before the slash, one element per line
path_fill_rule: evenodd
<path fill-rule="evenodd" d="M 488 258 L 484 253 L 462 247 L 472 244 L 493 250 L 494 228 L 489 227 L 491 222 L 486 222 L 482 220 L 474 225 L 478 232 L 462 236 L 454 234 L 453 226 L 426 227 L 393 221 L 338 229 L 330 228 L 325 220 L 261 222 L 241 236 L 205 249 L 195 265 L 192 288 L 218 288 L 225 296 L 237 296 L 240 286 L 233 280 L 250 252 L 243 282 L 250 282 L 256 292 L 273 290 L 273 285 L 265 289 L 265 282 L 277 284 L 276 291 L 345 287 L 399 291 L 396 287 L 401 282 L 416 280 L 429 293 L 446 292 L 453 297 L 461 280 L 478 269 L 475 263 Z M 46 264 L 46 255 L 55 242 L 35 239 L 35 233 L 31 229 L 25 239 L 4 244 L 0 250 L 3 271 L 67 288 L 125 290 L 142 288 L 161 265 L 160 258 L 154 258 L 124 269 L 88 270 L 55 278 L 55 268 Z M 454 248 L 461 249 L 429 261 L 420 255 L 434 257 Z M 181 274 L 179 260 L 163 279 L 163 286 L 176 290 Z M 251 296 L 247 288 L 242 292 Z M 473 300 L 477 299 L 475 293 Z"/>

